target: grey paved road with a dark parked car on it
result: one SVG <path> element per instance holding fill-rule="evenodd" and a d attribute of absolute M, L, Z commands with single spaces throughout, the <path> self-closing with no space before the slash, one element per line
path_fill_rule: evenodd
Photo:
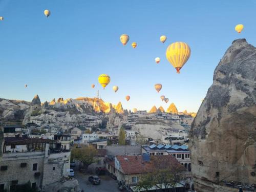
<path fill-rule="evenodd" d="M 118 192 L 117 182 L 109 176 L 99 176 L 100 184 L 93 185 L 88 181 L 89 175 L 84 175 L 75 171 L 75 178 L 79 182 L 79 187 L 84 190 L 84 192 Z"/>

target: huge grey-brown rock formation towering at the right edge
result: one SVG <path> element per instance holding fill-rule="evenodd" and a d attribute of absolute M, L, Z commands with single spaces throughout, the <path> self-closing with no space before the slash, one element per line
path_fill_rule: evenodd
<path fill-rule="evenodd" d="M 197 191 L 222 181 L 256 183 L 256 48 L 232 42 L 189 133 Z M 224 190 L 224 189 L 223 189 Z"/>

